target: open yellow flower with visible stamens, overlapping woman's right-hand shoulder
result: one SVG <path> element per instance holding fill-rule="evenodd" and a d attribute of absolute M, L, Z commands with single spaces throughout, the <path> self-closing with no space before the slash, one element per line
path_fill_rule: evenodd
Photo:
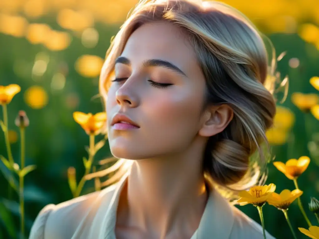
<path fill-rule="evenodd" d="M 243 206 L 246 204 L 253 204 L 254 206 L 263 206 L 264 203 L 271 196 L 271 193 L 276 189 L 276 185 L 264 185 L 264 186 L 254 186 L 250 188 L 249 191 L 241 191 L 239 192 L 238 203 Z"/>

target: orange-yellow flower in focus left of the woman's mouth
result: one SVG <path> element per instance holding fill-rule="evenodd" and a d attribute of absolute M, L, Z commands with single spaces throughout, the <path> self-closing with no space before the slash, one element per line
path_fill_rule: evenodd
<path fill-rule="evenodd" d="M 74 112 L 73 118 L 85 130 L 86 134 L 96 135 L 100 133 L 106 122 L 106 113 L 100 112 L 93 115 L 92 113 Z"/>

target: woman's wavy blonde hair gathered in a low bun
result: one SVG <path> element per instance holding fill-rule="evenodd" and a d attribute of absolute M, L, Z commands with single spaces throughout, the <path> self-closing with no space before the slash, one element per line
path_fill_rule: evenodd
<path fill-rule="evenodd" d="M 122 53 L 130 34 L 154 21 L 169 21 L 187 34 L 206 79 L 204 108 L 210 104 L 228 104 L 234 111 L 234 118 L 226 129 L 208 140 L 204 175 L 226 192 L 223 193 L 226 198 L 238 190 L 260 184 L 269 155 L 268 147 L 262 145 L 268 146 L 265 132 L 272 126 L 276 112 L 272 96 L 275 82 L 270 75 L 275 66 L 268 67 L 261 33 L 234 8 L 213 1 L 140 1 L 111 41 L 100 76 L 100 91 L 106 97 L 110 78 L 114 77 L 115 59 Z M 115 159 L 103 163 L 112 160 Z M 112 173 L 102 185 L 114 183 L 131 163 L 116 160 L 111 167 L 87 179 Z"/>

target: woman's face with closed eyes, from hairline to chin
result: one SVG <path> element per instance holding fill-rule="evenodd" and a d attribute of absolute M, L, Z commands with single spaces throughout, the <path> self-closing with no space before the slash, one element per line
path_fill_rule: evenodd
<path fill-rule="evenodd" d="M 137 160 L 183 152 L 201 127 L 205 91 L 187 36 L 167 22 L 142 25 L 116 62 L 117 80 L 111 83 L 106 102 L 111 153 Z M 139 128 L 112 126 L 117 113 Z"/>

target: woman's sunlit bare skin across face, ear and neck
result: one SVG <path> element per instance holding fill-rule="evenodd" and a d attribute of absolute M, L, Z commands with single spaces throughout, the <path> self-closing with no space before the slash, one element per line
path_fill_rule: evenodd
<path fill-rule="evenodd" d="M 207 193 L 198 195 L 204 192 L 199 155 L 208 137 L 221 132 L 233 116 L 225 105 L 211 107 L 201 115 L 206 85 L 191 49 L 174 25 L 157 22 L 141 26 L 128 39 L 121 54 L 125 58 L 116 63 L 115 77 L 110 79 L 115 81 L 104 96 L 111 153 L 136 160 L 128 179 L 128 202 L 123 203 L 118 223 L 139 231 L 152 225 L 154 232 L 149 238 L 163 236 L 158 234 L 167 231 L 170 220 L 180 220 L 182 227 L 188 228 L 184 233 L 189 238 L 198 228 L 207 200 Z M 153 59 L 174 64 L 179 70 L 143 66 Z M 111 122 L 117 113 L 139 127 L 116 129 Z"/>

